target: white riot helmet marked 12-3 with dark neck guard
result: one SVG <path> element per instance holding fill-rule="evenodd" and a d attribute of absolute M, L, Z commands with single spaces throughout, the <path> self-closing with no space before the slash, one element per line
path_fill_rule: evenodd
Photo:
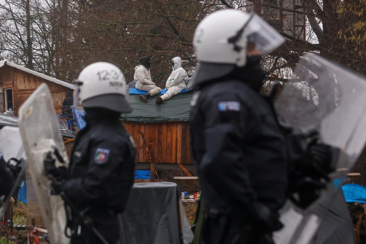
<path fill-rule="evenodd" d="M 126 79 L 114 64 L 97 62 L 85 67 L 74 81 L 74 106 L 105 108 L 115 112 L 130 113 L 126 101 Z"/>

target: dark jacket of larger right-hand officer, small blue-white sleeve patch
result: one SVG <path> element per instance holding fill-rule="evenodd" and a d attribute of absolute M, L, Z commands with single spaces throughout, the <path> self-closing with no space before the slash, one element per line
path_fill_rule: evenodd
<path fill-rule="evenodd" d="M 203 204 L 242 217 L 255 214 L 255 202 L 274 211 L 283 206 L 285 136 L 270 102 L 243 81 L 230 79 L 201 87 L 191 106 Z"/>

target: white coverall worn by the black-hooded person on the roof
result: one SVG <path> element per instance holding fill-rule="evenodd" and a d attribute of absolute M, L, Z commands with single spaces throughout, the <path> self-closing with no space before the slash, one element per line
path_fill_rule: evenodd
<path fill-rule="evenodd" d="M 135 67 L 134 80 L 136 81 L 136 89 L 141 91 L 148 91 L 153 96 L 160 93 L 160 87 L 155 86 L 151 80 L 150 70 L 147 70 L 142 64 Z"/>

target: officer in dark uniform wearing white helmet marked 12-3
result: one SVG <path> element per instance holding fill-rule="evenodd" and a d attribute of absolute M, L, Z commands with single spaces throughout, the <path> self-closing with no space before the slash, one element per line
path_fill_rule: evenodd
<path fill-rule="evenodd" d="M 121 113 L 132 111 L 125 99 L 126 80 L 115 65 L 98 62 L 75 83 L 74 106 L 82 104 L 87 125 L 76 137 L 67 172 L 55 167 L 51 155 L 45 171 L 57 179 L 53 193 L 83 213 L 73 211 L 68 223 L 72 243 L 117 243 L 118 214 L 126 206 L 135 162 L 134 142 L 119 120 Z M 85 216 L 92 224 L 83 223 Z"/>

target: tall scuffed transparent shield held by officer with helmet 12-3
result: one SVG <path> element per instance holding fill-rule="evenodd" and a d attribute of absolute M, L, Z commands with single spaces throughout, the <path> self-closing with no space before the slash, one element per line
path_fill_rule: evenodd
<path fill-rule="evenodd" d="M 51 93 L 45 83 L 19 109 L 19 129 L 27 155 L 27 163 L 50 243 L 66 244 L 66 213 L 59 195 L 51 195 L 51 181 L 44 173 L 44 158 L 56 147 L 66 158 L 65 146 L 56 120 Z M 60 166 L 56 160 L 56 166 Z M 66 161 L 64 166 L 68 166 Z"/>

